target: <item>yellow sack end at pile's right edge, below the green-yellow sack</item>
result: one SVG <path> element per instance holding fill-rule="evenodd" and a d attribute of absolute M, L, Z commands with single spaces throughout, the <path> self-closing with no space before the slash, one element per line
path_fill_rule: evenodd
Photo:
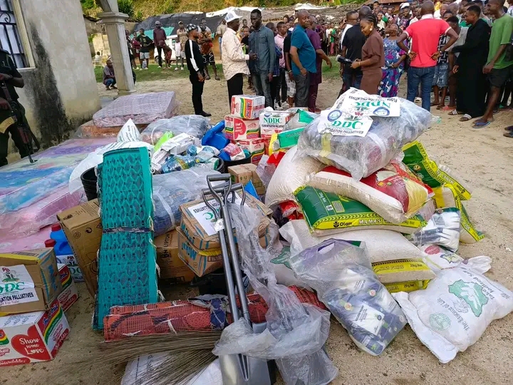
<path fill-rule="evenodd" d="M 433 188 L 433 202 L 437 208 L 456 207 L 460 210 L 461 214 L 461 227 L 460 227 L 460 242 L 475 243 L 484 238 L 484 234 L 477 230 L 472 222 L 470 222 L 467 210 L 463 207 L 460 195 L 457 189 L 450 184 L 441 185 Z"/>

